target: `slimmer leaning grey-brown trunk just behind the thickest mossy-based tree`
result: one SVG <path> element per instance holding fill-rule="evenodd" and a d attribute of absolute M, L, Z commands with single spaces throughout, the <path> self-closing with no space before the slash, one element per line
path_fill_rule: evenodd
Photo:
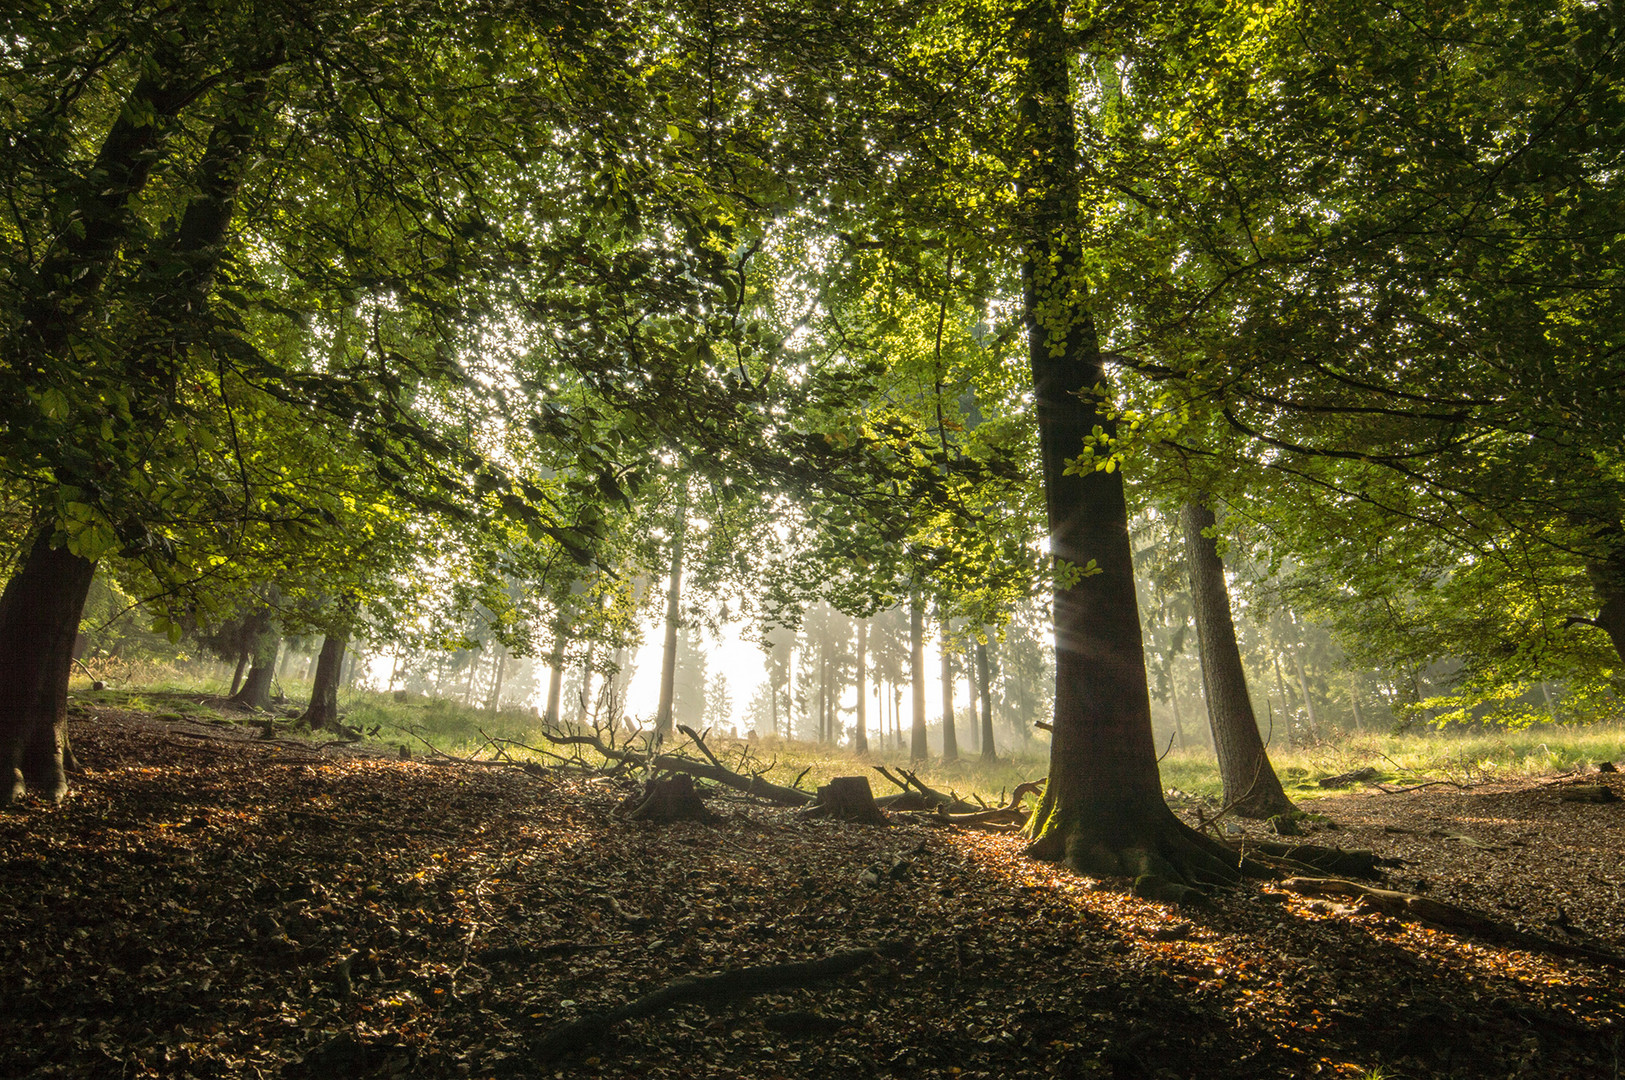
<path fill-rule="evenodd" d="M 1230 591 L 1224 562 L 1212 536 L 1214 512 L 1188 502 L 1180 513 L 1185 526 L 1185 562 L 1191 575 L 1191 604 L 1196 609 L 1196 638 L 1202 650 L 1202 687 L 1207 692 L 1207 723 L 1219 755 L 1224 801 L 1242 817 L 1272 817 L 1292 810 L 1280 780 L 1264 752 L 1246 693 L 1242 650 L 1230 617 Z"/>

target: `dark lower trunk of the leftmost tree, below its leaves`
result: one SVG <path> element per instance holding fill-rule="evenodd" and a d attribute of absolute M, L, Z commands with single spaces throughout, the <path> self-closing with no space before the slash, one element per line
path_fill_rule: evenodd
<path fill-rule="evenodd" d="M 32 789 L 68 791 L 63 771 L 68 674 L 96 564 L 52 547 L 42 526 L 0 593 L 0 806 Z"/>

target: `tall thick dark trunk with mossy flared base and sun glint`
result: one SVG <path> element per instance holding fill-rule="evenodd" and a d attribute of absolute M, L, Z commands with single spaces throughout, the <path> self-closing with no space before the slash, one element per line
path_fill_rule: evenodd
<path fill-rule="evenodd" d="M 1230 853 L 1180 822 L 1162 799 L 1134 596 L 1115 422 L 1087 310 L 1077 132 L 1063 6 L 1035 0 L 1017 18 L 1022 307 L 1038 413 L 1055 585 L 1055 724 L 1050 780 L 1029 819 L 1030 854 L 1086 874 L 1230 880 Z M 1094 448 L 1102 468 L 1068 474 Z"/>

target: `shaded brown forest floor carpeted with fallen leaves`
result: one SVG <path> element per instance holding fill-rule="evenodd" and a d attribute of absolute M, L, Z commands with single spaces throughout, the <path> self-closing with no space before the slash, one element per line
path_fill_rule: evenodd
<path fill-rule="evenodd" d="M 650 825 L 611 815 L 621 781 L 110 708 L 70 731 L 72 797 L 0 814 L 3 1077 L 1594 1080 L 1625 1057 L 1625 970 L 1272 885 L 1173 908 L 1014 836 L 722 794 L 713 823 Z M 1565 783 L 1337 796 L 1315 840 L 1625 950 L 1625 802 Z M 912 948 L 543 1057 L 673 979 L 887 942 Z"/>

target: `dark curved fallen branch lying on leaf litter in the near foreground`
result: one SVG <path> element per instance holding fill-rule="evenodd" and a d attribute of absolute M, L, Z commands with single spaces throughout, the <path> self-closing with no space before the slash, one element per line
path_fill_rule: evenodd
<path fill-rule="evenodd" d="M 910 950 L 912 945 L 908 942 L 882 942 L 874 948 L 838 952 L 822 960 L 774 963 L 722 971 L 718 974 L 689 976 L 676 983 L 668 983 L 658 991 L 644 994 L 619 1009 L 582 1017 L 580 1020 L 554 1028 L 531 1046 L 531 1052 L 538 1062 L 552 1062 L 570 1051 L 598 1043 L 622 1020 L 652 1017 L 656 1012 L 665 1012 L 678 1005 L 736 1000 L 741 997 L 756 997 L 757 994 L 796 989 L 850 974 L 876 960 L 904 957 Z"/>

